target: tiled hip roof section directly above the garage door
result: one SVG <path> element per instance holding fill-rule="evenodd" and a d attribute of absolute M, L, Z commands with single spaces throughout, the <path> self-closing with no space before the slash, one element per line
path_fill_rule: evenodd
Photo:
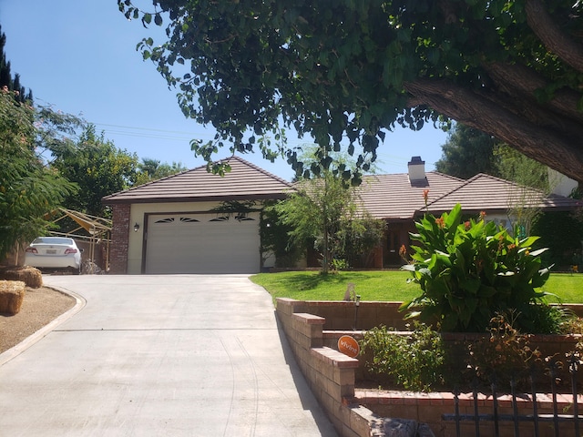
<path fill-rule="evenodd" d="M 285 192 L 292 189 L 289 182 L 245 159 L 232 157 L 224 161 L 229 162 L 231 168 L 224 177 L 209 173 L 206 166 L 201 166 L 114 193 L 104 197 L 102 202 L 110 205 L 285 198 Z"/>

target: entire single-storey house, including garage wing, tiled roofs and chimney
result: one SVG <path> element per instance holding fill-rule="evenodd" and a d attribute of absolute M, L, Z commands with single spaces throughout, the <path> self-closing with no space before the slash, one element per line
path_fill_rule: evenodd
<path fill-rule="evenodd" d="M 262 202 L 285 198 L 292 184 L 244 159 L 233 157 L 230 173 L 218 177 L 206 167 L 149 182 L 103 198 L 113 210 L 110 272 L 254 273 L 271 267 L 260 247 Z M 489 219 L 508 220 L 514 196 L 527 192 L 528 204 L 543 209 L 572 209 L 577 200 L 539 192 L 504 179 L 476 175 L 468 180 L 435 171 L 412 158 L 408 171 L 363 178 L 360 198 L 375 219 L 384 219 L 383 243 L 374 251 L 373 268 L 401 265 L 399 249 L 409 245 L 414 219 L 440 214 L 456 203 L 467 214 L 486 211 Z M 425 198 L 426 195 L 426 198 Z M 317 266 L 317 260 L 308 263 Z"/>

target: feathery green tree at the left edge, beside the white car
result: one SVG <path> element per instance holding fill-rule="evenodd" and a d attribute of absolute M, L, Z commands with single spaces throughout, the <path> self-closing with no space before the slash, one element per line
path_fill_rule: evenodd
<path fill-rule="evenodd" d="M 32 107 L 0 91 L 0 259 L 17 242 L 43 234 L 48 213 L 74 191 L 36 155 L 35 117 Z"/>

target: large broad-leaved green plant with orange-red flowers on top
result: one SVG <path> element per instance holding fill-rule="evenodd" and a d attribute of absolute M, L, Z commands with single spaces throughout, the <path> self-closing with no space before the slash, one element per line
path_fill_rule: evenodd
<path fill-rule="evenodd" d="M 425 215 L 415 227 L 414 263 L 403 269 L 423 291 L 404 304 L 410 317 L 445 331 L 484 332 L 496 311 L 527 311 L 545 296 L 537 290 L 549 275 L 541 266 L 545 249 L 531 251 L 537 237 L 515 239 L 483 217 L 462 223 L 460 205 L 440 218 Z"/>

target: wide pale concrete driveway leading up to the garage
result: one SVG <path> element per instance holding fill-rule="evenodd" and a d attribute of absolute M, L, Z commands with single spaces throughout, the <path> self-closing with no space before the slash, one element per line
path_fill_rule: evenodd
<path fill-rule="evenodd" d="M 85 306 L 0 365 L 0 435 L 336 435 L 246 276 L 44 279 Z"/>

